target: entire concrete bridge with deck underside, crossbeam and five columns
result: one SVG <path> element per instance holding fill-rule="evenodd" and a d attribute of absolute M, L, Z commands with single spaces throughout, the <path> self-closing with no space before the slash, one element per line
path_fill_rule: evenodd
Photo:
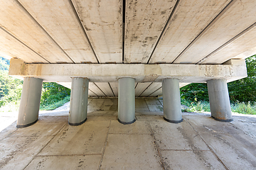
<path fill-rule="evenodd" d="M 87 96 L 118 96 L 119 108 L 128 101 L 133 108 L 135 96 L 163 94 L 171 106 L 164 118 L 180 121 L 178 87 L 199 82 L 208 83 L 213 117 L 232 120 L 227 82 L 246 77 L 244 59 L 256 54 L 251 0 L 0 2 L 0 55 L 12 59 L 9 74 L 27 84 L 21 126 L 37 120 L 24 119 L 38 110 L 42 81 L 72 89 L 75 125 L 86 120 Z M 73 100 L 81 101 L 78 111 Z M 133 121 L 122 114 L 121 122 Z"/>

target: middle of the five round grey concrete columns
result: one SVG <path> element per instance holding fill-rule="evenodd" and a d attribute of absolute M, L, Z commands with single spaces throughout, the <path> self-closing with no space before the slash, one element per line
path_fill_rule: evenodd
<path fill-rule="evenodd" d="M 124 125 L 135 122 L 135 79 L 118 80 L 118 121 Z"/>

